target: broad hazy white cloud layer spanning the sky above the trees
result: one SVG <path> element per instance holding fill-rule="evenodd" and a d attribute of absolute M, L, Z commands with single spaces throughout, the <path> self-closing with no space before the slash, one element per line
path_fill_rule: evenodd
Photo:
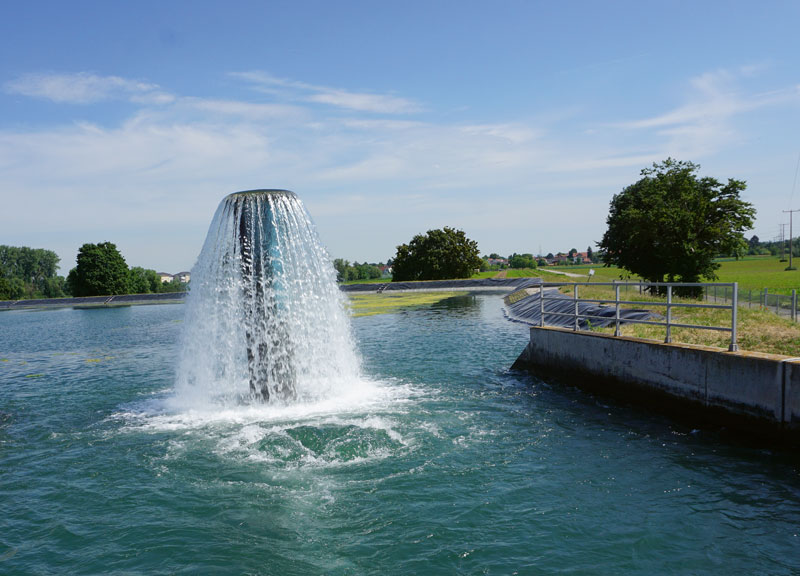
<path fill-rule="evenodd" d="M 180 228 L 170 247 L 174 265 L 145 254 L 129 262 L 183 269 L 222 195 L 277 187 L 303 196 L 342 257 L 387 258 L 410 235 L 443 225 L 484 230 L 481 246 L 491 249 L 521 250 L 514 243 L 532 234 L 547 240 L 545 248 L 571 244 L 576 227 L 548 215 L 569 214 L 583 234 L 599 238 L 608 199 L 640 168 L 670 155 L 702 162 L 747 135 L 766 109 L 800 103 L 796 86 L 747 92 L 742 76 L 713 72 L 691 80 L 671 109 L 598 121 L 587 132 L 578 113 L 460 122 L 415 115 L 422 106 L 405 98 L 359 99 L 262 72 L 235 76 L 258 93 L 170 95 L 155 84 L 88 73 L 7 84 L 9 92 L 56 102 L 137 105 L 106 125 L 0 130 L 0 190 L 19 192 L 0 211 L 7 241 L 38 242 L 42 229 L 55 230 L 66 261 L 82 242 L 135 246 L 143 229 L 161 237 Z M 365 247 L 367 236 L 375 241 Z"/>

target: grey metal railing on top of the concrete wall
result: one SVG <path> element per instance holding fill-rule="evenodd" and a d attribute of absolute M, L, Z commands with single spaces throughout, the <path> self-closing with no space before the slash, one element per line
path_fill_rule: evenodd
<path fill-rule="evenodd" d="M 590 302 L 593 304 L 598 305 L 610 305 L 613 304 L 615 307 L 614 312 L 614 336 L 620 335 L 620 323 L 628 323 L 628 324 L 646 324 L 650 326 L 664 326 L 666 329 L 666 337 L 664 339 L 665 343 L 672 342 L 672 328 L 694 328 L 698 330 L 715 330 L 719 332 L 730 332 L 731 341 L 728 350 L 731 352 L 735 352 L 739 349 L 739 346 L 736 342 L 736 327 L 737 327 L 737 315 L 736 311 L 739 307 L 739 285 L 738 282 L 733 283 L 693 283 L 693 282 L 626 282 L 625 284 L 619 282 L 543 282 L 540 284 L 540 297 L 539 297 L 539 326 L 545 326 L 545 316 L 560 316 L 560 317 L 569 317 L 573 318 L 573 330 L 577 331 L 579 329 L 580 320 L 587 319 L 591 321 L 593 318 L 597 320 L 608 320 L 608 318 L 602 316 L 592 316 L 588 314 L 581 314 L 578 308 L 578 302 Z M 572 301 L 574 302 L 574 309 L 571 313 L 564 313 L 564 312 L 547 312 L 544 309 L 544 301 L 545 300 L 562 300 L 563 296 L 547 296 L 545 288 L 559 288 L 562 286 L 571 286 L 573 288 L 573 296 Z M 610 298 L 603 298 L 603 299 L 594 299 L 594 298 L 580 298 L 578 295 L 578 287 L 579 286 L 590 286 L 592 288 L 602 287 L 602 286 L 610 286 L 614 288 L 614 299 L 611 300 Z M 620 289 L 625 286 L 635 286 L 638 287 L 640 293 L 645 288 L 657 288 L 664 289 L 666 292 L 666 302 L 660 302 L 658 300 L 653 301 L 634 301 L 634 300 L 621 300 L 620 299 Z M 703 289 L 704 293 L 708 293 L 709 288 L 719 288 L 725 287 L 730 288 L 730 303 L 725 304 L 708 304 L 708 303 L 701 303 L 701 302 L 682 302 L 682 301 L 675 301 L 673 299 L 673 289 L 674 288 L 701 288 Z M 535 287 L 534 287 L 535 288 Z M 635 320 L 635 319 L 620 319 L 620 306 L 621 305 L 634 305 L 634 306 L 642 306 L 645 305 L 647 307 L 653 306 L 664 306 L 666 308 L 665 311 L 665 320 L 663 322 L 654 321 L 654 320 Z M 718 309 L 718 310 L 730 310 L 730 326 L 703 326 L 698 324 L 684 324 L 673 322 L 672 320 L 672 310 L 675 308 L 705 308 L 705 309 Z"/>

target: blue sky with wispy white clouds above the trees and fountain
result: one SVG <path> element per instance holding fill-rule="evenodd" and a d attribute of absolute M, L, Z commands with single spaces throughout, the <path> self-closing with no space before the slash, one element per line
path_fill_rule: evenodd
<path fill-rule="evenodd" d="M 583 251 L 668 157 L 745 180 L 747 236 L 774 239 L 798 23 L 796 0 L 3 2 L 0 244 L 175 273 L 224 196 L 282 188 L 351 262 L 443 226 Z"/>

